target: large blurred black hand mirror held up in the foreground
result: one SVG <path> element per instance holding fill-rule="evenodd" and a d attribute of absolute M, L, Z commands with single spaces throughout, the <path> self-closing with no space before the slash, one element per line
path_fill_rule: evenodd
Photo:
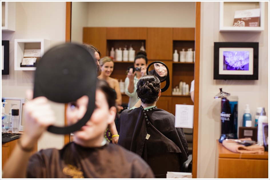
<path fill-rule="evenodd" d="M 89 98 L 81 120 L 67 127 L 49 126 L 49 132 L 69 134 L 85 125 L 95 107 L 96 80 L 93 55 L 81 45 L 57 45 L 43 55 L 35 72 L 33 98 L 45 96 L 58 103 L 73 102 L 84 95 Z"/>

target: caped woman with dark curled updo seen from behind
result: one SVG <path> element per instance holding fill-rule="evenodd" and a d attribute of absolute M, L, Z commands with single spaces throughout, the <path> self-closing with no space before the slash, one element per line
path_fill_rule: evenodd
<path fill-rule="evenodd" d="M 142 76 L 136 92 L 141 101 L 120 114 L 118 144 L 141 156 L 156 178 L 166 178 L 167 171 L 181 172 L 188 144 L 183 128 L 175 128 L 175 116 L 156 106 L 161 96 L 159 79 Z"/>

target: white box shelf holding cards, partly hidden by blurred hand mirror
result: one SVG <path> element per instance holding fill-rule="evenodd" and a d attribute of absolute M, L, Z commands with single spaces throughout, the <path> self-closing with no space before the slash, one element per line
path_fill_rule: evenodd
<path fill-rule="evenodd" d="M 47 39 L 15 39 L 14 40 L 14 70 L 35 71 L 36 67 L 21 67 L 25 49 L 41 49 L 41 57 L 50 49 L 51 42 Z"/>

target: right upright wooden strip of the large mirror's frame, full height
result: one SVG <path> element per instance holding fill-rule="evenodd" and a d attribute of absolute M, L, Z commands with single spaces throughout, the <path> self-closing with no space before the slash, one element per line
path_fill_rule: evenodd
<path fill-rule="evenodd" d="M 200 37 L 201 37 L 200 33 L 201 33 L 201 2 L 196 2 L 192 178 L 197 178 L 197 160 L 198 160 Z"/>

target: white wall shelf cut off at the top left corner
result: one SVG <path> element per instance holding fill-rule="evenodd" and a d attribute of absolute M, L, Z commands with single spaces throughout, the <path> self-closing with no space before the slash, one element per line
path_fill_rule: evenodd
<path fill-rule="evenodd" d="M 2 3 L 2 31 L 15 31 L 16 2 Z"/>

